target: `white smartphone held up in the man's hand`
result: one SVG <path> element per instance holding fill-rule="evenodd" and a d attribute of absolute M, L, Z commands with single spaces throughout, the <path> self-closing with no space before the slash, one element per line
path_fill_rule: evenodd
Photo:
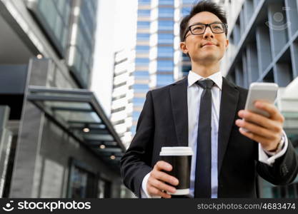
<path fill-rule="evenodd" d="M 274 103 L 277 98 L 277 91 L 277 83 L 251 83 L 249 86 L 249 93 L 247 95 L 247 102 L 245 103 L 245 110 L 269 117 L 269 113 L 267 111 L 254 107 L 254 103 L 256 101 Z"/>

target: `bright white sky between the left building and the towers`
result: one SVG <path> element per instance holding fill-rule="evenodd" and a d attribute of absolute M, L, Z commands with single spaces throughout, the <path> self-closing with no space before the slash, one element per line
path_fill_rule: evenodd
<path fill-rule="evenodd" d="M 106 115 L 111 112 L 114 52 L 134 44 L 137 0 L 99 0 L 94 68 L 91 91 L 94 91 Z"/>

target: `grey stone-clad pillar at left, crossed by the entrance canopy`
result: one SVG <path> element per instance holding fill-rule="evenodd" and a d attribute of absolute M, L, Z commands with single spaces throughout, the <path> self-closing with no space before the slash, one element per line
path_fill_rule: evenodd
<path fill-rule="evenodd" d="M 54 64 L 49 59 L 31 58 L 28 68 L 28 86 L 46 86 L 48 73 Z M 44 127 L 44 113 L 26 100 L 21 115 L 16 158 L 11 179 L 10 198 L 37 198 L 41 175 L 39 156 L 41 134 Z"/>

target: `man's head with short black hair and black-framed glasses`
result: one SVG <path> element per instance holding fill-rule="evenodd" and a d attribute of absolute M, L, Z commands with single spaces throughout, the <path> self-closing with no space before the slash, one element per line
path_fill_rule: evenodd
<path fill-rule="evenodd" d="M 225 12 L 212 1 L 200 1 L 182 19 L 180 40 L 180 48 L 192 61 L 220 61 L 229 45 Z"/>

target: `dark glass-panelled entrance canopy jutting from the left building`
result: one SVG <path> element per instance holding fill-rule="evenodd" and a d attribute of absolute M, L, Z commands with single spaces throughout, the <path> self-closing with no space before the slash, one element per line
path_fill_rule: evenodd
<path fill-rule="evenodd" d="M 103 161 L 119 169 L 125 147 L 93 92 L 29 86 L 27 99 Z"/>

